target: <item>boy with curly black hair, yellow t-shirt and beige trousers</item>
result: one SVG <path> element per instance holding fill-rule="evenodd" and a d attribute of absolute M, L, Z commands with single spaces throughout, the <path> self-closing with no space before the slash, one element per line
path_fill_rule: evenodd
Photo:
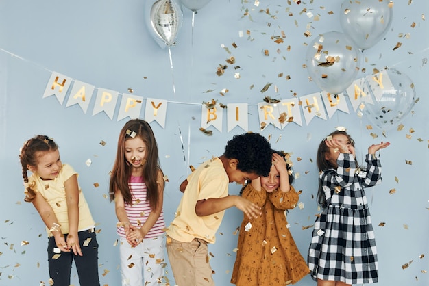
<path fill-rule="evenodd" d="M 237 207 L 249 218 L 261 215 L 251 201 L 229 196 L 228 183 L 267 176 L 271 157 L 270 144 L 262 135 L 235 135 L 221 157 L 201 164 L 180 185 L 184 194 L 167 230 L 167 253 L 177 285 L 215 285 L 207 244 L 215 243 L 225 209 Z"/>

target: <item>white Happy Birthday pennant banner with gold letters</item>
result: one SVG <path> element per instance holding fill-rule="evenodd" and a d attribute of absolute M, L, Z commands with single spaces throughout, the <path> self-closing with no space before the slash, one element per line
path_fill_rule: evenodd
<path fill-rule="evenodd" d="M 335 112 L 341 111 L 350 114 L 347 99 L 350 101 L 353 112 L 362 116 L 362 111 L 366 104 L 373 104 L 372 96 L 378 99 L 382 96 L 383 90 L 393 88 L 386 70 L 382 70 L 375 75 L 369 75 L 356 79 L 350 85 L 346 94 L 329 94 L 327 92 L 316 92 L 299 98 L 271 100 L 258 103 L 258 118 L 260 130 L 273 125 L 278 129 L 284 129 L 291 122 L 303 126 L 304 122 L 309 125 L 315 117 L 328 120 L 334 116 Z M 371 90 L 371 92 L 369 92 Z M 110 120 L 114 119 L 115 110 L 119 105 L 116 120 L 124 118 L 144 118 L 147 122 L 156 121 L 165 128 L 165 118 L 167 117 L 167 105 L 169 102 L 162 99 L 146 98 L 143 104 L 143 96 L 134 94 L 119 94 L 114 90 L 106 88 L 95 88 L 95 86 L 72 79 L 60 73 L 52 72 L 51 77 L 43 93 L 43 98 L 56 96 L 60 105 L 64 104 L 66 96 L 66 107 L 79 105 L 86 114 L 88 106 L 92 100 L 95 105 L 92 111 L 93 116 L 104 112 Z M 266 98 L 267 99 L 267 98 Z M 175 104 L 175 103 L 173 103 Z M 181 103 L 186 104 L 186 103 Z M 188 103 L 193 104 L 195 103 Z M 142 115 L 143 105 L 145 107 Z M 227 116 L 227 129 L 230 132 L 234 127 L 241 127 L 244 131 L 249 131 L 249 105 L 247 103 L 228 103 L 222 105 L 212 100 L 210 103 L 201 103 L 201 129 L 215 127 L 222 132 L 223 114 Z"/>

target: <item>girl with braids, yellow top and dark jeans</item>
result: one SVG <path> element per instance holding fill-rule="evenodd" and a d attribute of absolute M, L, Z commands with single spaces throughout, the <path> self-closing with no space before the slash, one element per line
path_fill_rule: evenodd
<path fill-rule="evenodd" d="M 80 285 L 100 285 L 95 222 L 77 183 L 77 172 L 62 164 L 57 144 L 45 135 L 27 140 L 19 159 L 25 201 L 33 203 L 46 225 L 51 280 L 55 285 L 70 285 L 74 260 Z"/>

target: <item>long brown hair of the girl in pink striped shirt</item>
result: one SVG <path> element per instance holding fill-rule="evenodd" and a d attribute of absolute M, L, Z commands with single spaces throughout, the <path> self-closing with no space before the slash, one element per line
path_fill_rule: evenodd
<path fill-rule="evenodd" d="M 146 199 L 151 209 L 158 205 L 158 170 L 161 170 L 158 157 L 158 144 L 149 123 L 145 120 L 132 119 L 125 123 L 119 133 L 118 148 L 112 174 L 110 175 L 109 197 L 114 200 L 114 192 L 119 190 L 125 203 L 132 205 L 132 194 L 128 181 L 130 180 L 132 168 L 125 159 L 125 141 L 130 138 L 141 138 L 146 144 L 146 161 L 143 166 L 143 179 L 147 187 Z M 161 170 L 162 172 L 162 170 Z"/>

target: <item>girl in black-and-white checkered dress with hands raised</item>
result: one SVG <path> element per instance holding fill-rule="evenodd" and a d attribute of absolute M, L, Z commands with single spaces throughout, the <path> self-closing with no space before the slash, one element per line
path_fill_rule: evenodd
<path fill-rule="evenodd" d="M 381 182 L 376 151 L 389 144 L 369 146 L 364 172 L 346 131 L 334 131 L 320 143 L 317 200 L 324 209 L 316 219 L 308 250 L 310 274 L 318 286 L 378 282 L 376 240 L 364 187 Z"/>

